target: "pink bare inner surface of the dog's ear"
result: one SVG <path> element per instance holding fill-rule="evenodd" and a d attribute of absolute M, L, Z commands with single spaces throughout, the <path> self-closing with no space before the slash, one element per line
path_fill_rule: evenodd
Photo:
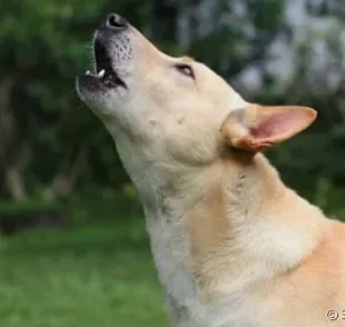
<path fill-rule="evenodd" d="M 256 127 L 250 129 L 255 138 L 272 138 L 287 132 L 293 132 L 298 127 L 300 115 L 296 110 L 276 112 L 264 118 Z"/>

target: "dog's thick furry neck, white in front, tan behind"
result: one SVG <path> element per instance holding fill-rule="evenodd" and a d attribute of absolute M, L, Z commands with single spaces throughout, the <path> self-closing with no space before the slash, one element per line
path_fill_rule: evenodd
<path fill-rule="evenodd" d="M 286 188 L 260 153 L 177 167 L 134 158 L 129 145 L 118 151 L 144 204 L 160 281 L 176 297 L 223 298 L 224 290 L 262 285 L 322 240 L 323 214 Z"/>

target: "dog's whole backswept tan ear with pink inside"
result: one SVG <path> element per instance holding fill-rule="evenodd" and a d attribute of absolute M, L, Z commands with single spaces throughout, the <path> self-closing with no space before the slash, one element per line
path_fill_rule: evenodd
<path fill-rule="evenodd" d="M 316 111 L 307 107 L 248 105 L 227 116 L 221 133 L 230 146 L 256 152 L 306 129 L 316 116 Z"/>

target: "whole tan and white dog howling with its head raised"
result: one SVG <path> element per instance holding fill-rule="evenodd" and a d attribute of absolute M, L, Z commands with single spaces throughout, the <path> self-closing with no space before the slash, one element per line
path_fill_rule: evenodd
<path fill-rule="evenodd" d="M 248 103 L 117 14 L 96 33 L 95 60 L 78 93 L 138 189 L 171 326 L 345 326 L 344 225 L 259 152 L 316 112 Z"/>

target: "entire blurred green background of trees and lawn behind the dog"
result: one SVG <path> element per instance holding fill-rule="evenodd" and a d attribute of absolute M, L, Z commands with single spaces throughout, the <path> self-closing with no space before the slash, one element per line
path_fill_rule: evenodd
<path fill-rule="evenodd" d="M 248 100 L 318 119 L 267 155 L 286 184 L 345 217 L 343 0 L 0 2 L 0 326 L 166 326 L 136 191 L 75 77 L 118 12 Z"/>

